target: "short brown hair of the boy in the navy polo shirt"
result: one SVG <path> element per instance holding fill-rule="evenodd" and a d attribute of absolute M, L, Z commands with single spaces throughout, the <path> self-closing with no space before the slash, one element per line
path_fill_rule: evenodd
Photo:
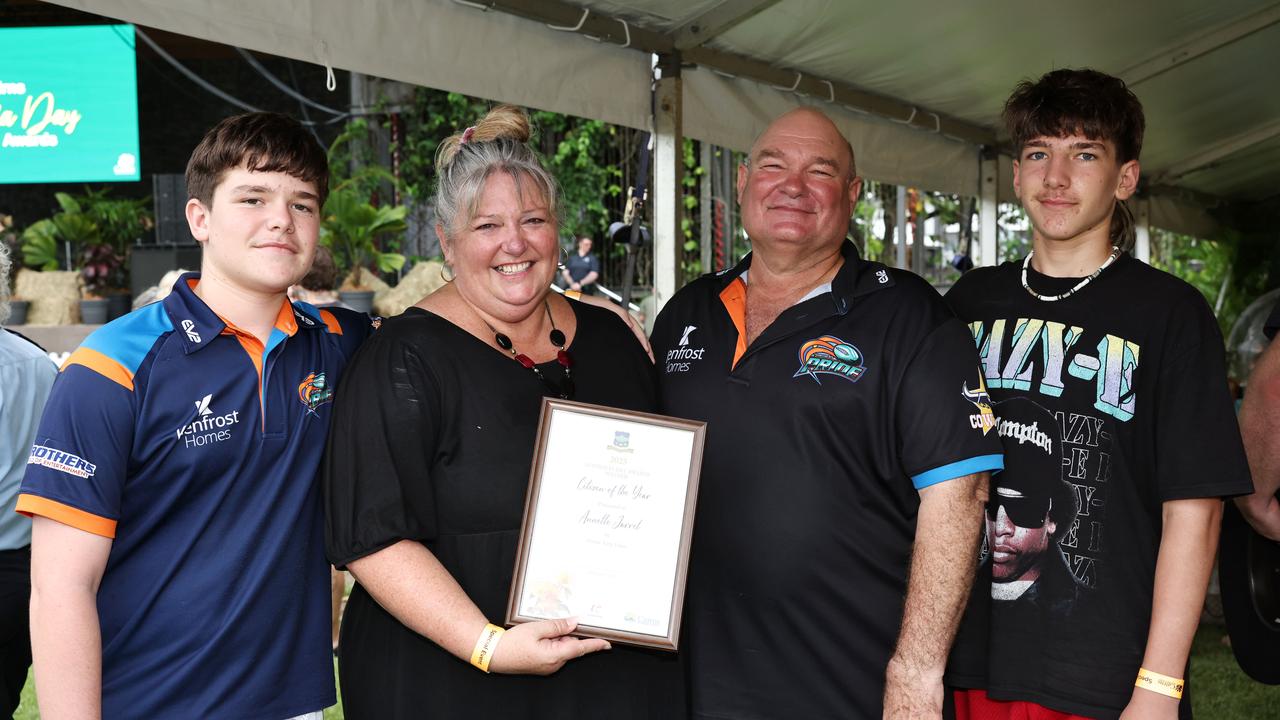
<path fill-rule="evenodd" d="M 227 170 L 287 173 L 314 183 L 320 205 L 329 196 L 329 159 L 302 123 L 279 113 L 246 113 L 218 123 L 187 163 L 187 195 L 206 206 Z"/>

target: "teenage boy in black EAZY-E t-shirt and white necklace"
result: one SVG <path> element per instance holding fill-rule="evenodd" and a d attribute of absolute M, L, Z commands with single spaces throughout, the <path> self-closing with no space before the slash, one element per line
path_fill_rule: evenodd
<path fill-rule="evenodd" d="M 1033 252 L 966 274 L 947 301 L 978 346 L 995 429 L 1011 398 L 1056 419 L 1076 512 L 1048 550 L 1080 588 L 1037 612 L 974 589 L 947 671 L 956 717 L 1190 717 L 1175 696 L 1220 498 L 1252 488 L 1222 338 L 1198 291 L 1121 250 L 1144 127 L 1133 92 L 1055 70 L 1019 85 L 1005 120 Z M 1001 433 L 1006 454 L 1023 434 Z"/>

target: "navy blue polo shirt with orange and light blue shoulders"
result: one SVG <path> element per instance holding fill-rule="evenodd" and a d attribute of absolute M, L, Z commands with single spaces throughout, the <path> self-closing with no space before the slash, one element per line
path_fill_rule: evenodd
<path fill-rule="evenodd" d="M 105 717 L 282 720 L 335 702 L 316 468 L 370 322 L 283 302 L 264 346 L 197 282 L 68 357 L 18 511 L 113 538 Z"/>

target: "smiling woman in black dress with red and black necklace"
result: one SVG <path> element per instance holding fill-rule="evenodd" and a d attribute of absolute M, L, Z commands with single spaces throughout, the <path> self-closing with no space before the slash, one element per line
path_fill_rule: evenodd
<path fill-rule="evenodd" d="M 347 717 L 668 719 L 676 657 L 517 625 L 488 674 L 544 396 L 652 411 L 653 365 L 613 313 L 550 293 L 556 184 L 497 108 L 440 146 L 452 282 L 383 323 L 343 377 L 323 473 L 330 560 L 357 584 L 339 679 Z"/>

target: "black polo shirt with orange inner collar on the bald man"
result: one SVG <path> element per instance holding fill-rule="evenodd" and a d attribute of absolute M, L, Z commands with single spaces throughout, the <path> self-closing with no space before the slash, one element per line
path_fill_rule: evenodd
<path fill-rule="evenodd" d="M 878 717 L 918 492 L 1004 466 L 964 324 L 919 277 L 842 255 L 750 345 L 750 255 L 654 327 L 664 413 L 708 423 L 681 646 L 695 717 Z"/>

